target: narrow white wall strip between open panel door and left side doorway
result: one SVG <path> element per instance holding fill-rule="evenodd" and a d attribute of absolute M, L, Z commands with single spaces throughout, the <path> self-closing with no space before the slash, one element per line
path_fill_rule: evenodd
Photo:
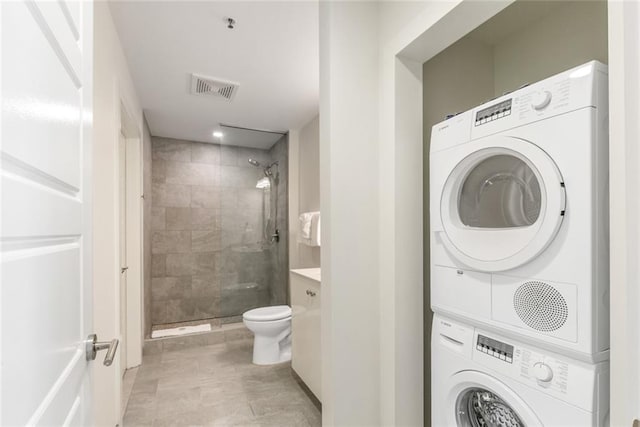
<path fill-rule="evenodd" d="M 142 109 L 107 2 L 94 7 L 93 300 L 94 330 L 101 341 L 119 335 L 118 134 L 122 102 L 142 135 Z M 93 364 L 94 425 L 120 422 L 120 367 Z"/>

